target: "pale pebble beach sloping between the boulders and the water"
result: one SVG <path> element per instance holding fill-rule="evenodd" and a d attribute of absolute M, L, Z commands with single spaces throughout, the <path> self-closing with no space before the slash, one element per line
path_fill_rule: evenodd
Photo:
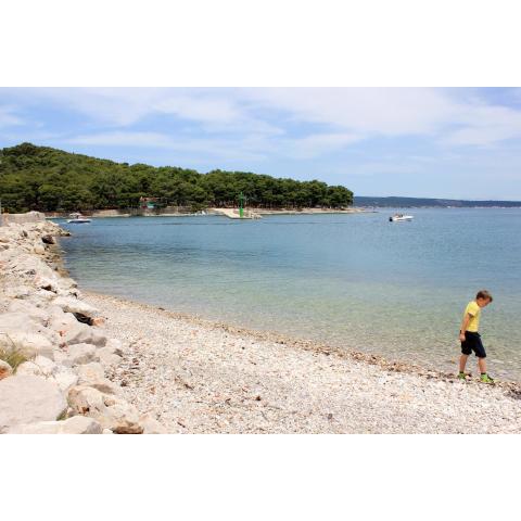
<path fill-rule="evenodd" d="M 516 384 L 342 353 L 86 294 L 127 348 L 111 378 L 171 433 L 519 433 Z"/>

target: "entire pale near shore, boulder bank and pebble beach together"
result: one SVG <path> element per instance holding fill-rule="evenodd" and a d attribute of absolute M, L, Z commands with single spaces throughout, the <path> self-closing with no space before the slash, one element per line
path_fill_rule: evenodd
<path fill-rule="evenodd" d="M 0 350 L 26 359 L 0 361 L 0 432 L 521 432 L 512 382 L 80 293 L 60 269 L 63 233 L 0 228 Z"/>

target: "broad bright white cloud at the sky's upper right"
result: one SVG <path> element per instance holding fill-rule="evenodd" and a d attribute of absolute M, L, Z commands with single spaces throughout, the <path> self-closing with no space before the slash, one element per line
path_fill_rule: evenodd
<path fill-rule="evenodd" d="M 427 136 L 452 145 L 486 145 L 521 137 L 521 111 L 459 89 L 276 88 L 244 93 L 296 122 L 345 129 L 360 139 Z"/>

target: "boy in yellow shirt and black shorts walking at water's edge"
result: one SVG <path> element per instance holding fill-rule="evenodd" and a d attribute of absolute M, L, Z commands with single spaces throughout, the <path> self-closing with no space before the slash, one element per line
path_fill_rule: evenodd
<path fill-rule="evenodd" d="M 465 309 L 463 321 L 459 330 L 459 341 L 461 342 L 461 357 L 459 358 L 459 374 L 461 380 L 466 379 L 465 366 L 469 355 L 474 352 L 478 357 L 480 368 L 480 380 L 484 383 L 494 383 L 494 379 L 486 373 L 486 353 L 481 342 L 481 335 L 478 332 L 480 326 L 481 309 L 493 301 L 492 295 L 486 291 L 479 291 L 475 301 L 469 302 Z"/>

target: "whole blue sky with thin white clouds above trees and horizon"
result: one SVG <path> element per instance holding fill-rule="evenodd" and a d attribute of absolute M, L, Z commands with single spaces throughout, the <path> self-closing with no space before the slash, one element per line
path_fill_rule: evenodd
<path fill-rule="evenodd" d="M 0 148 L 521 200 L 521 88 L 0 88 Z"/>

